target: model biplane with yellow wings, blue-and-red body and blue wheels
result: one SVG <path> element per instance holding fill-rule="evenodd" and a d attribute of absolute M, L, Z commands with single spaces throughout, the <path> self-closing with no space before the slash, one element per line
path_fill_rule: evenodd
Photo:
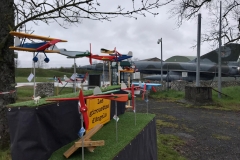
<path fill-rule="evenodd" d="M 67 42 L 66 40 L 58 39 L 58 38 L 49 38 L 43 37 L 33 34 L 27 34 L 22 32 L 15 32 L 11 31 L 11 35 L 22 38 L 20 44 L 15 44 L 15 46 L 10 46 L 10 49 L 19 50 L 19 51 L 28 51 L 28 52 L 37 52 L 36 56 L 33 58 L 34 62 L 38 61 L 37 55 L 39 52 L 44 53 L 46 63 L 49 62 L 49 58 L 47 57 L 46 53 L 57 53 L 56 50 L 49 50 L 51 46 L 54 46 L 58 42 Z M 34 43 L 24 43 L 26 39 L 37 39 L 42 40 L 43 42 L 34 42 Z"/>

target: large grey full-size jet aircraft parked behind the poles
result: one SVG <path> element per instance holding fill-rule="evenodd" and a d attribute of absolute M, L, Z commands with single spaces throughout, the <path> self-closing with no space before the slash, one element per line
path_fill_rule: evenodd
<path fill-rule="evenodd" d="M 240 44 L 227 44 L 222 47 L 221 74 L 223 77 L 240 76 L 237 60 L 240 55 Z M 218 75 L 218 49 L 200 57 L 200 80 L 210 80 Z M 137 61 L 136 70 L 145 74 L 160 74 L 161 62 Z M 196 59 L 190 62 L 162 62 L 163 80 L 196 80 Z M 161 80 L 161 75 L 144 77 L 148 80 Z"/>

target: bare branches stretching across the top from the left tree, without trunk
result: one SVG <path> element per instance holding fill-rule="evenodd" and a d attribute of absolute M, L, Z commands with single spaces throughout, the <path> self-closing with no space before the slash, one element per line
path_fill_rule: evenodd
<path fill-rule="evenodd" d="M 24 0 L 14 4 L 16 17 L 19 23 L 13 28 L 16 30 L 27 22 L 33 21 L 37 24 L 42 21 L 49 24 L 53 21 L 64 27 L 65 24 L 81 23 L 82 19 L 91 19 L 99 21 L 111 21 L 117 16 L 137 19 L 137 15 L 146 16 L 146 13 L 158 15 L 151 10 L 163 6 L 173 0 L 168 0 L 166 3 L 160 3 L 159 0 L 151 3 L 149 0 L 142 0 L 141 3 L 135 3 L 132 0 L 132 9 L 127 10 L 122 5 L 116 5 L 115 10 L 101 11 L 101 3 L 97 0 Z M 128 7 L 128 6 L 126 6 Z M 112 8 L 112 6 L 111 6 Z M 59 20 L 62 19 L 62 23 Z"/>

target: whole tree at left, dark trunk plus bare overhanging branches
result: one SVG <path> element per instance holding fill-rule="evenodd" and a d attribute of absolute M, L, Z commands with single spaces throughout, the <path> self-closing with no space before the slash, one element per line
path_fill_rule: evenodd
<path fill-rule="evenodd" d="M 132 0 L 129 4 L 124 2 L 116 4 L 115 10 L 102 11 L 101 5 L 104 2 L 97 0 L 65 0 L 65 1 L 47 1 L 47 0 L 1 0 L 0 1 L 0 92 L 14 90 L 15 85 L 15 68 L 14 54 L 9 50 L 14 39 L 9 35 L 9 31 L 16 31 L 18 28 L 25 26 L 28 22 L 51 22 L 58 23 L 65 27 L 66 24 L 81 23 L 82 19 L 110 21 L 117 16 L 137 19 L 137 15 L 146 16 L 146 13 L 157 15 L 153 12 L 154 8 L 161 5 L 159 0 L 149 2 L 142 0 L 135 2 Z M 105 4 L 109 4 L 106 2 Z M 129 6 L 131 6 L 129 8 Z M 128 8 L 128 9 L 126 9 Z M 16 24 L 14 24 L 14 18 Z M 6 105 L 15 102 L 16 95 L 0 95 L 0 147 L 8 145 L 3 139 L 8 138 L 6 126 Z"/>

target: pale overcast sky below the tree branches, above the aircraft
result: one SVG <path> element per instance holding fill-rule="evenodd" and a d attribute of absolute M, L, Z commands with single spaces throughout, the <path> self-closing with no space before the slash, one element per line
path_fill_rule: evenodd
<path fill-rule="evenodd" d="M 119 16 L 111 22 L 84 19 L 81 24 L 66 26 L 67 29 L 60 27 L 57 23 L 51 23 L 49 26 L 43 23 L 39 23 L 39 26 L 30 23 L 28 28 L 34 29 L 34 34 L 37 35 L 68 40 L 66 43 L 58 43 L 57 46 L 72 51 L 89 50 L 91 43 L 93 54 L 100 54 L 101 48 L 114 49 L 116 47 L 121 54 L 132 51 L 133 58 L 161 58 L 161 45 L 157 44 L 157 40 L 162 38 L 163 60 L 175 55 L 196 56 L 197 49 L 192 49 L 191 46 L 196 44 L 197 40 L 197 17 L 191 21 L 185 21 L 178 28 L 176 17 L 170 18 L 168 13 L 171 7 L 159 8 L 157 10 L 159 15 L 156 17 L 147 14 L 147 17 L 138 16 L 137 20 Z M 207 29 L 208 17 L 204 15 L 204 10 L 201 12 L 203 33 Z M 201 55 L 211 50 L 209 44 L 201 45 Z M 18 54 L 21 68 L 32 67 L 32 53 L 18 52 Z M 48 67 L 71 67 L 73 65 L 73 59 L 67 59 L 63 55 L 50 53 L 47 56 L 50 58 Z M 86 57 L 78 58 L 76 62 L 78 66 L 89 64 Z"/>

